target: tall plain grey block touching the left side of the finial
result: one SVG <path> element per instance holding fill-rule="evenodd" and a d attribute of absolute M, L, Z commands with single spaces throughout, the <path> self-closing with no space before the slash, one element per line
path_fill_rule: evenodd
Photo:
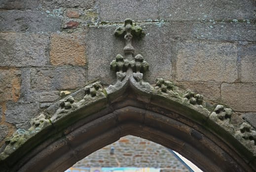
<path fill-rule="evenodd" d="M 114 84 L 115 73 L 110 70 L 110 62 L 123 52 L 124 42 L 116 39 L 116 26 L 90 27 L 86 35 L 88 79 L 99 78 L 106 84 Z M 104 39 L 102 39 L 104 37 Z"/>

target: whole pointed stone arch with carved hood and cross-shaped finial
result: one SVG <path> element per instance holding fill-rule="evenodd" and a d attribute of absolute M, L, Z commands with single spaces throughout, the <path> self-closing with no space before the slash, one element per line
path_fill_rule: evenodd
<path fill-rule="evenodd" d="M 116 35 L 126 38 L 126 58 L 117 55 L 110 64 L 116 84 L 85 86 L 32 119 L 27 131 L 17 130 L 0 154 L 3 171 L 63 171 L 126 135 L 174 149 L 205 171 L 256 170 L 256 131 L 250 124 L 170 81 L 146 83 L 148 64 L 134 57 L 131 44 L 142 29 L 128 19 Z"/>

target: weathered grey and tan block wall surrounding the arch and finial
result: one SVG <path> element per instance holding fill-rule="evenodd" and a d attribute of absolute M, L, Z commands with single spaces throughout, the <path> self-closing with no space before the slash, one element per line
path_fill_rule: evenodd
<path fill-rule="evenodd" d="M 0 146 L 69 92 L 114 83 L 125 18 L 145 30 L 133 44 L 147 82 L 172 80 L 256 127 L 255 10 L 255 0 L 1 0 Z"/>

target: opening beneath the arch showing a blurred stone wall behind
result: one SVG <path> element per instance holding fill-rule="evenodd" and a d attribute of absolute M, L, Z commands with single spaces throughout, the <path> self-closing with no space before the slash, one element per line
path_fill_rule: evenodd
<path fill-rule="evenodd" d="M 93 152 L 65 172 L 202 172 L 177 152 L 131 135 Z"/>

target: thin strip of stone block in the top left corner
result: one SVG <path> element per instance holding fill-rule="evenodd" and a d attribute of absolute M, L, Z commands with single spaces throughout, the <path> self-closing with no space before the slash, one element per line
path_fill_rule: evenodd
<path fill-rule="evenodd" d="M 40 0 L 1 0 L 0 8 L 3 9 L 33 9 L 37 8 Z"/>

